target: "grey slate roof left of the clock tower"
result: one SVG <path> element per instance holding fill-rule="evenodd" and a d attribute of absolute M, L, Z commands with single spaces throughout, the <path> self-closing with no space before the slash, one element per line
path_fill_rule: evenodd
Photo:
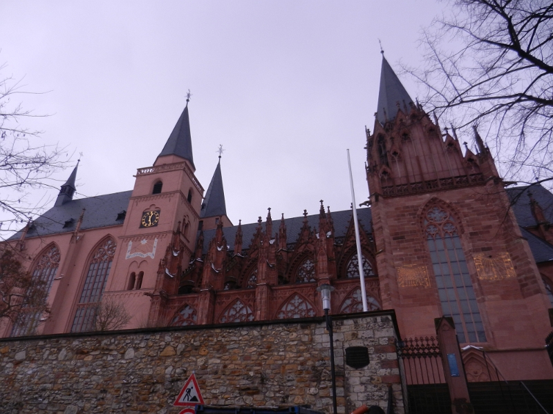
<path fill-rule="evenodd" d="M 122 193 L 98 195 L 97 197 L 68 201 L 62 206 L 54 206 L 33 221 L 33 226 L 26 237 L 54 235 L 75 230 L 83 208 L 86 208 L 86 211 L 81 224 L 82 230 L 123 224 L 124 220 L 118 220 L 117 217 L 119 213 L 128 208 L 132 193 L 132 191 L 123 191 Z M 71 219 L 73 222 L 64 227 L 66 221 Z M 19 230 L 10 239 L 19 239 L 21 231 Z"/>

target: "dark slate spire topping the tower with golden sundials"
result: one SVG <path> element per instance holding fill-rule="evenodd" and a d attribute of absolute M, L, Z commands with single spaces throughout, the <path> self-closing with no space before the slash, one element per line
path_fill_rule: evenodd
<path fill-rule="evenodd" d="M 388 120 L 393 121 L 399 110 L 397 103 L 402 101 L 412 103 L 413 99 L 382 54 L 377 108 L 377 119 L 380 124 L 384 125 Z"/>

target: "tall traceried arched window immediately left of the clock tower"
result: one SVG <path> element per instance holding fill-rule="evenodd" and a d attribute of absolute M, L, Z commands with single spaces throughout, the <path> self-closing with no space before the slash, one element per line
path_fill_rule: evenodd
<path fill-rule="evenodd" d="M 96 309 L 106 288 L 116 247 L 115 241 L 109 238 L 96 249 L 88 265 L 71 332 L 86 332 L 94 328 Z"/>

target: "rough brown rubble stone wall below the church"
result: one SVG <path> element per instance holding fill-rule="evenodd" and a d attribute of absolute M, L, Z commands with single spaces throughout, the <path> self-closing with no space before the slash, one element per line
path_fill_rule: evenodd
<path fill-rule="evenodd" d="M 393 311 L 335 317 L 339 413 L 362 404 L 403 413 Z M 371 363 L 345 364 L 368 347 Z M 159 413 L 195 373 L 205 404 L 309 404 L 331 413 L 321 318 L 0 339 L 1 413 Z"/>

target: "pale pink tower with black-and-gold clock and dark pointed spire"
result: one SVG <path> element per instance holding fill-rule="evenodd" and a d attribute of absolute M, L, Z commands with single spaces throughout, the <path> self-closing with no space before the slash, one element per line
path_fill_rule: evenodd
<path fill-rule="evenodd" d="M 151 315 L 176 295 L 182 267 L 194 250 L 204 189 L 194 175 L 188 101 L 153 166 L 135 175 L 114 277 L 104 293 L 125 302 L 141 326 L 151 324 Z"/>

